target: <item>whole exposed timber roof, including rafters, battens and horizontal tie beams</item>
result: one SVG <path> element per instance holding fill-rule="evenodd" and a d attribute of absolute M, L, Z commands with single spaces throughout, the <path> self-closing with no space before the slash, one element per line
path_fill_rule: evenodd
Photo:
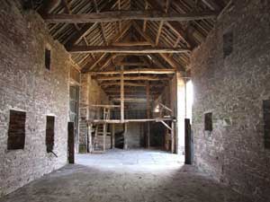
<path fill-rule="evenodd" d="M 37 11 L 81 73 L 113 96 L 124 83 L 123 95 L 136 98 L 141 89 L 161 93 L 176 71 L 185 75 L 193 48 L 229 0 L 42 2 Z"/>

